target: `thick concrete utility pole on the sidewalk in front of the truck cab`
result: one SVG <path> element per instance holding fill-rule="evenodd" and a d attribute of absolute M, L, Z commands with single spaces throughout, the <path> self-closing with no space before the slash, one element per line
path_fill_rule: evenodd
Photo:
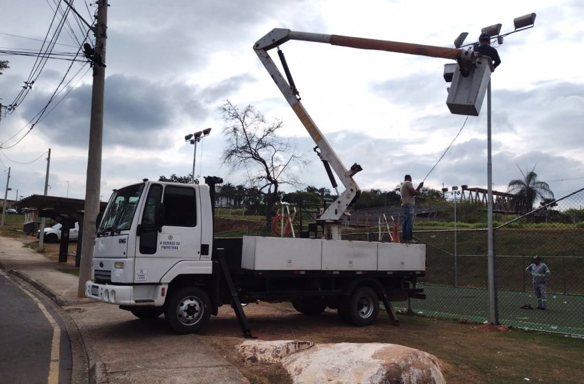
<path fill-rule="evenodd" d="M 98 0 L 96 47 L 93 60 L 93 90 L 91 92 L 91 123 L 89 153 L 85 180 L 85 213 L 83 215 L 81 263 L 77 296 L 85 297 L 85 282 L 91 279 L 93 242 L 96 238 L 96 218 L 100 212 L 100 182 L 102 178 L 102 138 L 104 119 L 104 83 L 106 62 L 107 0 Z"/>

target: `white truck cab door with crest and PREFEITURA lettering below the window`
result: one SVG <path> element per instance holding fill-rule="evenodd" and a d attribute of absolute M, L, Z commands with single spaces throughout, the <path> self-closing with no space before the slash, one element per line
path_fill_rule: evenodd
<path fill-rule="evenodd" d="M 152 184 L 140 223 L 152 228 L 157 204 L 164 204 L 158 230 L 140 231 L 136 245 L 135 283 L 156 283 L 179 261 L 201 259 L 201 219 L 194 185 Z"/>

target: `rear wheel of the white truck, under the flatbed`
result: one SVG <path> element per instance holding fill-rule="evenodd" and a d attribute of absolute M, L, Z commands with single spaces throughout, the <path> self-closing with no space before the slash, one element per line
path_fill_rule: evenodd
<path fill-rule="evenodd" d="M 368 326 L 379 313 L 379 296 L 370 287 L 357 287 L 347 300 L 339 303 L 337 311 L 349 325 Z"/>

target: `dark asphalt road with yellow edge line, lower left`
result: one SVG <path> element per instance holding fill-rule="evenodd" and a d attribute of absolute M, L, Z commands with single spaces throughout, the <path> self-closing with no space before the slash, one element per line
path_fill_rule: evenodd
<path fill-rule="evenodd" d="M 0 381 L 71 383 L 71 345 L 53 304 L 0 271 Z"/>

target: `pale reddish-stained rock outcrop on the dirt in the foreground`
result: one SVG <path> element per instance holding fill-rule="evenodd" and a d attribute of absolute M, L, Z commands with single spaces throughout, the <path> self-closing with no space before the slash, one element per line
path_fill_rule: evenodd
<path fill-rule="evenodd" d="M 254 361 L 280 362 L 294 383 L 446 383 L 438 359 L 396 344 L 315 344 L 304 341 L 245 341 L 240 350 Z M 295 346 L 299 346 L 296 348 Z M 255 357 L 253 357 L 255 356 Z"/>

